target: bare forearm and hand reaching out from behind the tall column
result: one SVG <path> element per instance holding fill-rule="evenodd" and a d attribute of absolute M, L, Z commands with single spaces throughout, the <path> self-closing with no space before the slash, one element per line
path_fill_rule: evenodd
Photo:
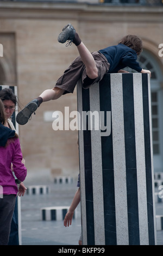
<path fill-rule="evenodd" d="M 74 210 L 77 208 L 79 203 L 80 203 L 80 188 L 78 188 L 77 192 L 75 193 L 71 206 L 65 216 L 65 219 L 64 219 L 65 227 L 69 227 L 69 224 L 71 225 Z"/>

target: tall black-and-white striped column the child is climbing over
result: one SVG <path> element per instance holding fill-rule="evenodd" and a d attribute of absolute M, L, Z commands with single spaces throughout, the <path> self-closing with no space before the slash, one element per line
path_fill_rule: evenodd
<path fill-rule="evenodd" d="M 148 75 L 108 74 L 77 92 L 83 245 L 155 245 Z"/>

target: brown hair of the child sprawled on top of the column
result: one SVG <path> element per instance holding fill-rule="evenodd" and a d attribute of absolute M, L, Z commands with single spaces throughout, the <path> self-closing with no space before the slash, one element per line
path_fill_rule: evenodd
<path fill-rule="evenodd" d="M 137 55 L 142 52 L 142 40 L 137 35 L 125 35 L 119 44 L 130 47 L 137 53 Z"/>

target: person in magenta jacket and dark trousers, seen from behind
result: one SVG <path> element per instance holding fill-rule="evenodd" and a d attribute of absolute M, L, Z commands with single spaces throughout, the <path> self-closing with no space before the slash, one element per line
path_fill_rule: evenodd
<path fill-rule="evenodd" d="M 22 163 L 22 151 L 18 135 L 5 127 L 3 103 L 0 100 L 0 245 L 8 245 L 12 215 L 18 192 L 12 168 L 17 179 L 23 181 L 27 169 Z"/>

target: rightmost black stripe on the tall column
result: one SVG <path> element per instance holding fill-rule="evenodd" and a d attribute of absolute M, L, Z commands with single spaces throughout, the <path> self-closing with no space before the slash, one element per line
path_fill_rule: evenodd
<path fill-rule="evenodd" d="M 149 245 L 154 245 L 155 239 L 154 239 L 154 216 L 153 216 L 151 139 L 150 139 L 150 126 L 149 126 L 149 96 L 148 96 L 147 74 L 142 74 L 142 93 L 143 93 L 143 118 L 144 118 L 144 133 L 145 133 L 148 234 L 149 234 Z"/>

